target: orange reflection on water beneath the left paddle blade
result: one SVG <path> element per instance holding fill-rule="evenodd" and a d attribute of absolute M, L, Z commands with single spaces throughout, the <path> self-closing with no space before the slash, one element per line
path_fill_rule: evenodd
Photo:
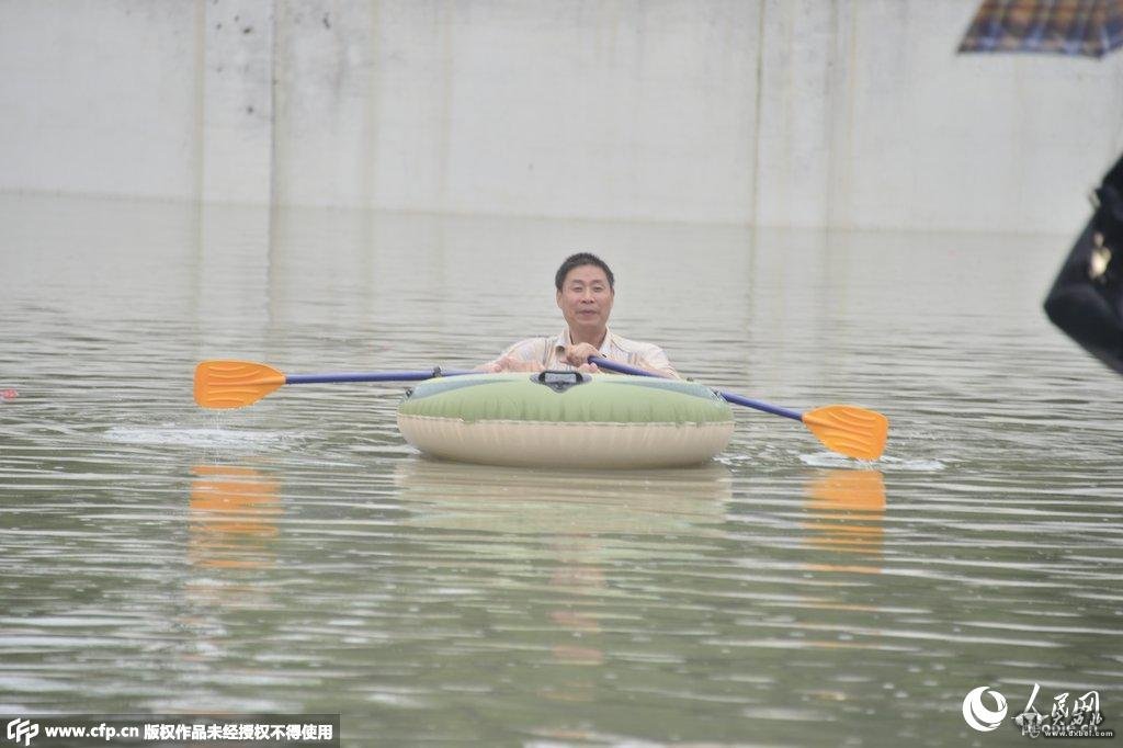
<path fill-rule="evenodd" d="M 281 514 L 279 483 L 252 467 L 197 465 L 191 471 L 189 559 L 221 568 L 274 562 L 270 546 Z"/>

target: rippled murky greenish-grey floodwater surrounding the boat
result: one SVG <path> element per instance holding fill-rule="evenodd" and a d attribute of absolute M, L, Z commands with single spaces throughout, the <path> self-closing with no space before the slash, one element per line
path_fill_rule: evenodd
<path fill-rule="evenodd" d="M 1074 227 L 1074 236 L 1079 227 Z M 1040 302 L 1070 237 L 0 200 L 0 714 L 338 712 L 348 746 L 1023 745 L 1123 728 L 1123 380 Z M 466 367 L 562 321 L 886 413 L 738 412 L 693 469 L 439 463 L 403 385 L 204 411 L 194 364 Z M 993 732 L 965 721 L 1003 694 Z M 983 704 L 994 709 L 992 696 Z"/>

